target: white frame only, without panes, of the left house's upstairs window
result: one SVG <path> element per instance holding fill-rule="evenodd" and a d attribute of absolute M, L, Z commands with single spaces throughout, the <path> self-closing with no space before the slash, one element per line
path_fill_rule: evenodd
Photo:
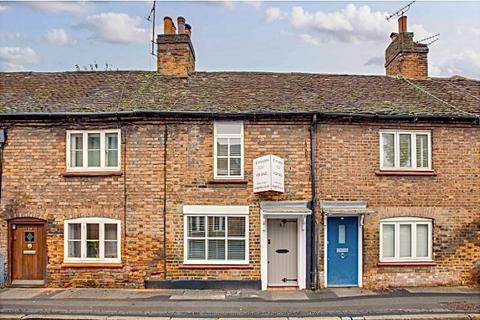
<path fill-rule="evenodd" d="M 88 166 L 88 134 L 98 133 L 100 134 L 100 167 L 89 167 Z M 108 133 L 118 134 L 118 165 L 115 167 L 107 167 L 106 164 L 106 146 L 105 146 L 105 135 Z M 72 167 L 70 165 L 70 139 L 72 134 L 82 134 L 83 136 L 83 167 Z M 82 172 L 82 171 L 120 171 L 121 162 L 122 162 L 122 137 L 120 129 L 109 129 L 109 130 L 67 130 L 67 171 L 68 172 Z"/>

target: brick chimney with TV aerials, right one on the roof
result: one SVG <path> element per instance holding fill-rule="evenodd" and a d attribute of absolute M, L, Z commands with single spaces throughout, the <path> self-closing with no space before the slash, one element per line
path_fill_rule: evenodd
<path fill-rule="evenodd" d="M 428 78 L 428 47 L 413 41 L 413 32 L 407 31 L 407 17 L 398 19 L 398 33 L 390 35 L 392 42 L 385 50 L 387 76 L 403 76 L 412 80 Z"/>

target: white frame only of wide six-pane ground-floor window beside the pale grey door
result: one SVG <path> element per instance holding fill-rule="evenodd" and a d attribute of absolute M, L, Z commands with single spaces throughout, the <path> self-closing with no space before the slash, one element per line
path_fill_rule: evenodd
<path fill-rule="evenodd" d="M 205 239 L 205 259 L 189 260 L 188 259 L 188 240 L 197 237 L 188 237 L 188 217 L 203 216 L 205 217 L 205 236 L 198 237 L 199 240 Z M 244 237 L 228 237 L 228 219 L 225 219 L 225 240 L 245 240 L 245 259 L 244 260 L 228 260 L 228 241 L 225 247 L 224 260 L 208 260 L 208 240 L 222 239 L 219 237 L 208 237 L 208 217 L 245 217 L 245 236 Z M 183 263 L 184 264 L 205 264 L 205 265 L 248 265 L 250 262 L 249 250 L 249 207 L 248 206 L 183 206 Z"/>

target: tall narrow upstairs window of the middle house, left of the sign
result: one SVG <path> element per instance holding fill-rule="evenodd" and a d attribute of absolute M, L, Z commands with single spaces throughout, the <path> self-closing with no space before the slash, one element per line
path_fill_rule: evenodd
<path fill-rule="evenodd" d="M 216 121 L 214 137 L 215 179 L 242 179 L 243 122 Z"/>

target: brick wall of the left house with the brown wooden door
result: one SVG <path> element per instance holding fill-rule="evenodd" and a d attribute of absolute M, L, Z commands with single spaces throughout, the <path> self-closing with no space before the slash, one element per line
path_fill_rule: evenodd
<path fill-rule="evenodd" d="M 122 166 L 126 171 L 111 177 L 62 175 L 67 128 L 101 126 L 13 126 L 8 130 L 3 157 L 0 250 L 6 255 L 6 219 L 45 219 L 49 286 L 143 286 L 146 276 L 163 272 L 163 265 L 158 263 L 163 256 L 163 127 L 123 127 L 122 145 L 126 144 L 127 152 L 122 153 Z M 126 226 L 122 267 L 64 265 L 64 219 L 90 216 L 120 219 L 122 228 Z"/>

